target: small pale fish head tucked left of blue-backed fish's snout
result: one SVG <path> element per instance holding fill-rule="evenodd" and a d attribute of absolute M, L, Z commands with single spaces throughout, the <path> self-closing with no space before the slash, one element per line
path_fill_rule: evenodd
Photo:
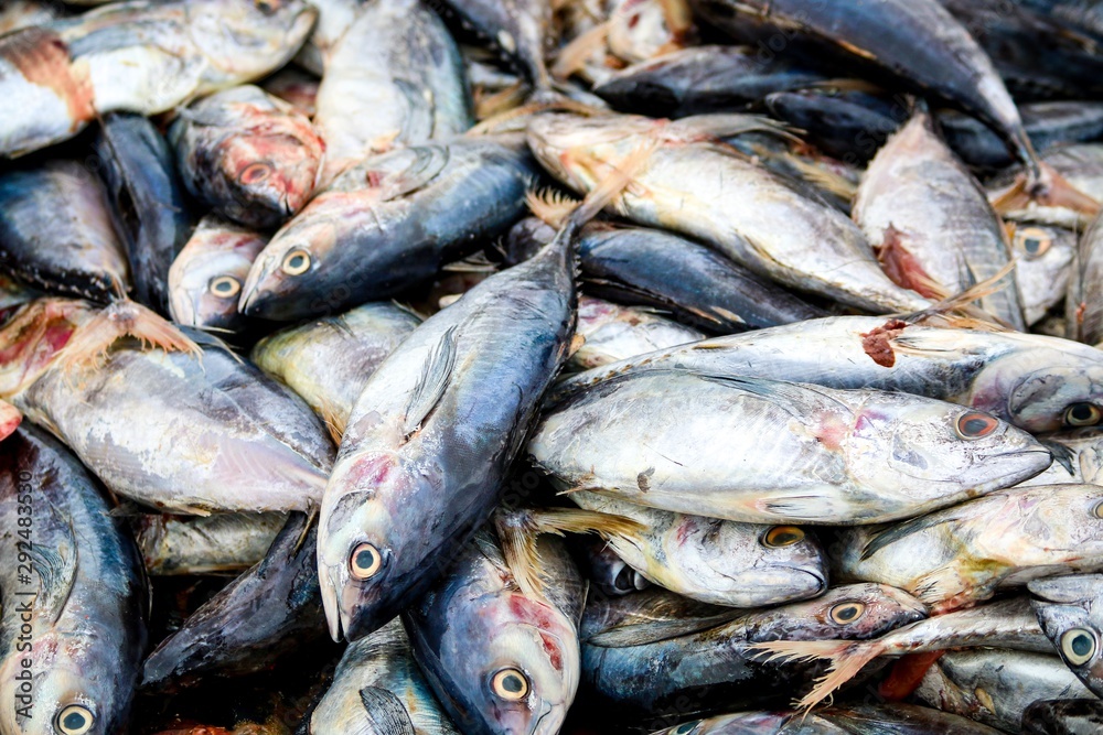
<path fill-rule="evenodd" d="M 237 311 L 253 261 L 268 245 L 256 230 L 217 215 L 200 220 L 169 268 L 169 313 L 178 324 L 242 332 L 248 320 Z"/>

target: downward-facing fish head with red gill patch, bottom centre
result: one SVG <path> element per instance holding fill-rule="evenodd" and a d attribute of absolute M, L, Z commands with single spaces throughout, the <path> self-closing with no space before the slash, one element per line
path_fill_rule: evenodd
<path fill-rule="evenodd" d="M 467 714 L 464 732 L 558 733 L 581 671 L 574 624 L 521 592 L 490 595 L 456 623 L 441 647 L 441 666 Z"/>

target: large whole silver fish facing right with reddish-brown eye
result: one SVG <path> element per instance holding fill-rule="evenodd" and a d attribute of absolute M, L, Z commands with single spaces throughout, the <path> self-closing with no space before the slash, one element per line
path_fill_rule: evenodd
<path fill-rule="evenodd" d="M 527 452 L 568 494 L 768 525 L 911 518 L 1051 462 L 1025 431 L 952 403 L 687 369 L 571 396 Z"/>

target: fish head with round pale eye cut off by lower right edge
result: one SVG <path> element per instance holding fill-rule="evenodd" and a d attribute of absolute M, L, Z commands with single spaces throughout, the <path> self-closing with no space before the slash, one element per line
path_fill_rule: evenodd
<path fill-rule="evenodd" d="M 1103 692 L 1103 575 L 1073 574 L 1030 582 L 1038 624 L 1065 664 Z"/>

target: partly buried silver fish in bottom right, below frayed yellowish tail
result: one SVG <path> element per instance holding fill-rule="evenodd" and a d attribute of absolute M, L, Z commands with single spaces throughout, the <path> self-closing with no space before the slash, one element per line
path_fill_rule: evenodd
<path fill-rule="evenodd" d="M 998 648 L 947 651 L 915 690 L 920 702 L 1013 733 L 1038 700 L 1088 696 L 1056 656 Z"/>

